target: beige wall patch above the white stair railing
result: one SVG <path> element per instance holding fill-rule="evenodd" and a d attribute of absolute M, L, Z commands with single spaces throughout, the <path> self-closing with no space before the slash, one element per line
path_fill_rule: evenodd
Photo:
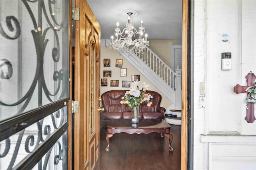
<path fill-rule="evenodd" d="M 171 45 L 176 39 L 150 39 L 149 48 L 160 58 L 164 63 L 171 67 Z"/>

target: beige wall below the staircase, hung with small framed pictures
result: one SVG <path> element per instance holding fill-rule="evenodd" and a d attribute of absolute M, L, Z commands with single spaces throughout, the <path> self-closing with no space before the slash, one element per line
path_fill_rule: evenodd
<path fill-rule="evenodd" d="M 122 81 L 131 81 L 132 75 L 140 75 L 140 82 L 145 82 L 146 84 L 150 85 L 149 90 L 156 91 L 158 93 L 159 90 L 153 86 L 146 77 L 142 76 L 136 68 L 134 68 L 124 57 L 119 55 L 114 49 L 110 49 L 110 47 L 101 47 L 100 49 L 100 58 L 101 58 L 101 65 L 100 65 L 100 78 L 107 78 L 103 77 L 103 71 L 104 70 L 111 70 L 111 77 L 108 77 L 108 86 L 100 87 L 100 95 L 103 94 L 106 91 L 109 90 L 130 90 L 130 88 L 122 88 Z M 110 67 L 103 67 L 103 60 L 104 59 L 110 59 Z M 127 76 L 120 76 L 120 68 L 116 67 L 116 59 L 122 59 L 123 65 L 122 68 L 127 68 Z M 119 80 L 119 86 L 118 87 L 110 87 L 110 80 Z M 132 81 L 131 81 L 132 84 Z M 140 84 L 140 90 L 142 89 L 143 84 Z M 161 94 L 161 93 L 160 93 Z M 170 105 L 172 105 L 172 102 L 170 102 L 163 94 L 162 96 L 162 102 L 160 103 L 160 106 L 168 108 Z"/>

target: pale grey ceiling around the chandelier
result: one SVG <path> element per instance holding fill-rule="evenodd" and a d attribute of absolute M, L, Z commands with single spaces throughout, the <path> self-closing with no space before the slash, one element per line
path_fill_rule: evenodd
<path fill-rule="evenodd" d="M 101 39 L 111 39 L 116 23 L 123 29 L 126 24 L 125 10 L 136 10 L 134 27 L 143 20 L 148 39 L 182 40 L 182 0 L 87 0 L 101 27 Z M 124 14 L 122 14 L 122 12 Z"/>

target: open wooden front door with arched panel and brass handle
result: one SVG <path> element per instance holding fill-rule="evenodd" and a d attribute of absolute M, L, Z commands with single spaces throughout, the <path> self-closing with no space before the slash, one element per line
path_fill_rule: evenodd
<path fill-rule="evenodd" d="M 100 25 L 86 0 L 76 0 L 79 20 L 75 21 L 74 169 L 99 169 L 100 165 Z"/>

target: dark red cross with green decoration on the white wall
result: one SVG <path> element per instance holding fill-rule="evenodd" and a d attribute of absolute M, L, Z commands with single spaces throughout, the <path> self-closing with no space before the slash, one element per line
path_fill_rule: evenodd
<path fill-rule="evenodd" d="M 250 92 L 248 92 L 248 88 L 253 87 L 252 84 L 254 84 L 254 81 L 256 80 L 256 76 L 252 72 L 249 72 L 247 76 L 245 76 L 245 78 L 247 81 L 247 86 L 240 86 L 239 84 L 236 84 L 236 86 L 234 86 L 234 92 L 236 94 L 247 93 L 247 97 L 248 97 L 248 95 L 251 95 Z M 255 120 L 254 103 L 248 102 L 247 109 L 246 109 L 246 117 L 244 119 L 248 123 L 254 122 Z"/>

